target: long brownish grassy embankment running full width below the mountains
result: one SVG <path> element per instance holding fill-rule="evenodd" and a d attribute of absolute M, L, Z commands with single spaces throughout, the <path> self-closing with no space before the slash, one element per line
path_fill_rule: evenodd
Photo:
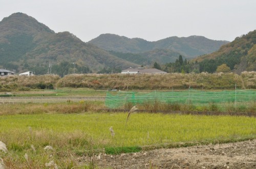
<path fill-rule="evenodd" d="M 95 90 L 172 90 L 172 89 L 256 89 L 256 72 L 171 73 L 171 74 L 72 74 L 0 77 L 0 92 L 34 89 L 91 88 Z"/>

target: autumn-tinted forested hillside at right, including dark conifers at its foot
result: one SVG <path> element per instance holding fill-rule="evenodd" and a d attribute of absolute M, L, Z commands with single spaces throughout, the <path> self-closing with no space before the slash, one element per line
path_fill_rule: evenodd
<path fill-rule="evenodd" d="M 162 65 L 166 72 L 234 72 L 256 71 L 256 30 L 237 37 L 218 51 L 187 61 L 179 56 L 175 63 Z"/>

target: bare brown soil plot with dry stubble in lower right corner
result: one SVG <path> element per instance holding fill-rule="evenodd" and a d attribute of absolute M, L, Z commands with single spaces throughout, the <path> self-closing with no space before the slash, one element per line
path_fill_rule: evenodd
<path fill-rule="evenodd" d="M 81 163 L 92 159 L 82 157 Z M 95 156 L 99 168 L 256 168 L 256 139 L 239 143 Z"/>

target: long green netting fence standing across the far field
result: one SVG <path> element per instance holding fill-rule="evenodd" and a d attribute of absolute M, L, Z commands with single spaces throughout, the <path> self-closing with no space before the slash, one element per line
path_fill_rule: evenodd
<path fill-rule="evenodd" d="M 224 91 L 171 91 L 171 92 L 108 92 L 105 105 L 109 108 L 119 108 L 126 103 L 143 104 L 145 102 L 165 102 L 184 104 L 208 103 L 241 103 L 255 102 L 256 90 L 224 90 Z"/>

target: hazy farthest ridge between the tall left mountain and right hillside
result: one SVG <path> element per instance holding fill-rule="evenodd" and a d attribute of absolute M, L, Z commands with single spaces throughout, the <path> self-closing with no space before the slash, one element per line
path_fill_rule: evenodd
<path fill-rule="evenodd" d="M 155 42 L 140 38 L 127 38 L 114 34 L 102 34 L 88 43 L 97 45 L 105 50 L 122 53 L 141 53 L 155 49 L 168 49 L 182 54 L 186 58 L 195 58 L 218 50 L 228 41 L 210 40 L 202 36 L 169 37 Z"/>

